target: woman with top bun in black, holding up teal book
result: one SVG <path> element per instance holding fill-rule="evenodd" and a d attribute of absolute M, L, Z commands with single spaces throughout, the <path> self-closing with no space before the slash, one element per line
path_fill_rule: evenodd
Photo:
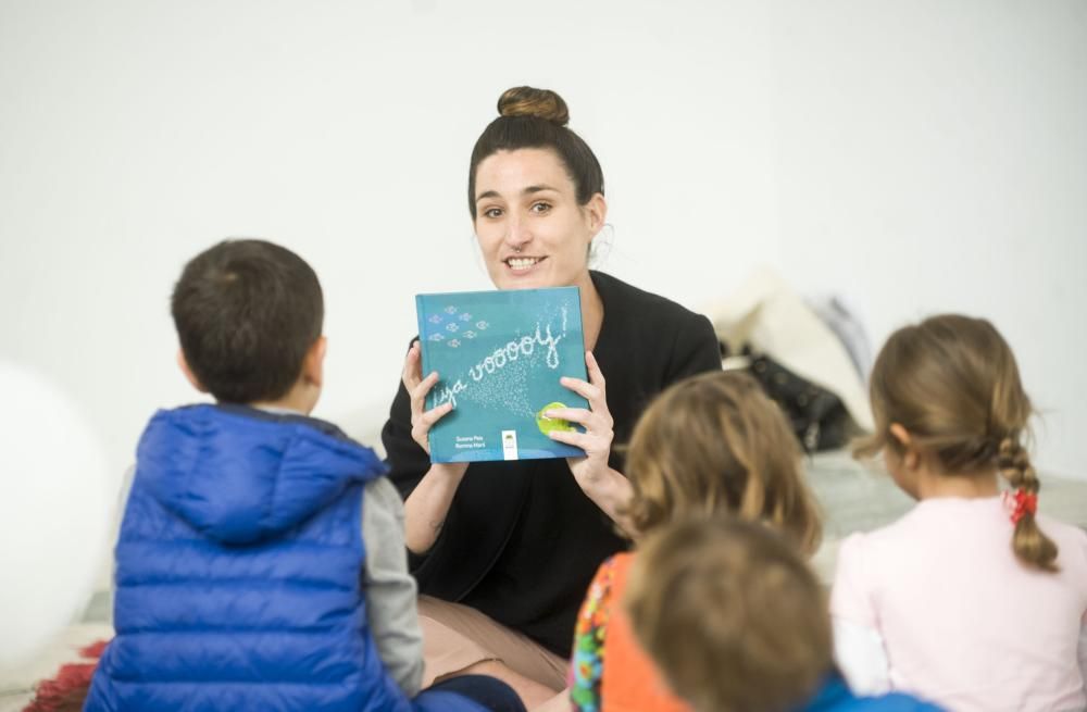
<path fill-rule="evenodd" d="M 585 589 L 600 562 L 624 548 L 616 511 L 630 487 L 612 444 L 627 440 L 653 395 L 720 369 L 721 358 L 704 316 L 589 270 L 608 213 L 603 174 L 565 127 L 559 95 L 518 87 L 498 109 L 472 152 L 468 210 L 497 288 L 580 289 L 588 382 L 562 383 L 589 409 L 557 411 L 585 432 L 554 437 L 585 457 L 432 464 L 427 432 L 451 407 L 424 410 L 438 374 L 423 376 L 417 343 L 383 440 L 405 497 L 426 680 L 487 673 L 534 707 L 564 687 Z"/>

